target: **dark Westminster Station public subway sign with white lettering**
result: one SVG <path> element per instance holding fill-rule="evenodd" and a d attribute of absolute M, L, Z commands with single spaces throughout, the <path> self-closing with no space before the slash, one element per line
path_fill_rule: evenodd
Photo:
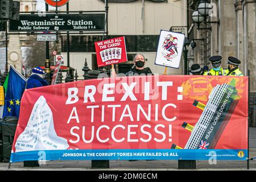
<path fill-rule="evenodd" d="M 88 31 L 103 32 L 105 13 L 83 14 L 20 14 L 18 21 L 10 20 L 11 32 Z"/>

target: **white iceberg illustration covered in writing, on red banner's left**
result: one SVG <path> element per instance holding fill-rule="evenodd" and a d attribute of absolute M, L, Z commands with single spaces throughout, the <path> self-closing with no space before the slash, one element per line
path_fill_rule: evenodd
<path fill-rule="evenodd" d="M 46 98 L 40 96 L 32 109 L 26 128 L 16 140 L 15 152 L 65 150 L 68 147 L 67 139 L 57 136 L 52 111 Z"/>

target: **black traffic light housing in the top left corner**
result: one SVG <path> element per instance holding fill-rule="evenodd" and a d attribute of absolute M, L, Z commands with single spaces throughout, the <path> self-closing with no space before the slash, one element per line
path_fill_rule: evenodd
<path fill-rule="evenodd" d="M 0 0 L 0 19 L 19 20 L 20 2 L 13 0 Z"/>

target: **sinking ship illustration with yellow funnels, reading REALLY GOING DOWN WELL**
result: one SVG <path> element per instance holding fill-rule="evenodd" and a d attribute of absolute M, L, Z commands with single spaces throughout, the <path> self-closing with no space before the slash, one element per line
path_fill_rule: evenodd
<path fill-rule="evenodd" d="M 233 79 L 230 84 L 214 87 L 207 105 L 198 101 L 193 103 L 193 106 L 203 110 L 203 113 L 195 126 L 183 123 L 182 127 L 191 132 L 184 149 L 210 149 L 216 146 L 239 101 L 234 100 L 237 96 L 235 85 L 236 81 Z M 182 149 L 176 144 L 172 144 L 171 148 Z"/>

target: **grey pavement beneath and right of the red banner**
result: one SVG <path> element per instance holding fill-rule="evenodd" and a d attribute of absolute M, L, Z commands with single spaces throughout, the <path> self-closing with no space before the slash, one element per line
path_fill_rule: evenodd
<path fill-rule="evenodd" d="M 256 127 L 250 128 L 250 158 L 256 157 Z M 50 161 L 40 167 L 23 167 L 23 162 L 11 164 L 0 163 L 0 171 L 3 170 L 31 170 L 31 171 L 176 171 L 178 163 L 176 160 L 138 160 L 129 162 L 127 160 L 110 160 L 109 169 L 92 169 L 90 160 L 72 160 L 72 161 Z M 197 161 L 196 171 L 247 171 L 247 162 L 245 161 L 217 161 L 216 165 L 210 165 L 208 161 Z M 250 160 L 250 169 L 256 171 L 256 160 Z"/>

